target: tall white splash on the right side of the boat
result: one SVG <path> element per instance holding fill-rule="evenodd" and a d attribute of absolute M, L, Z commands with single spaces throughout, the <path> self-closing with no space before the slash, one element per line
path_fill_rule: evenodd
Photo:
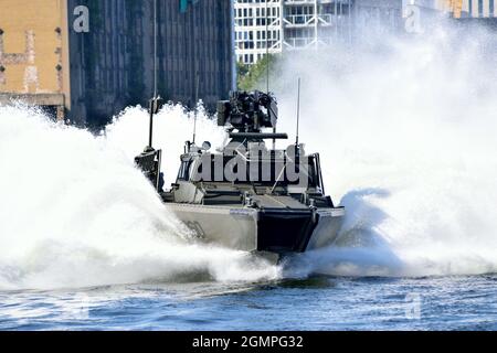
<path fill-rule="evenodd" d="M 299 257 L 299 271 L 497 271 L 496 55 L 495 33 L 441 26 L 286 63 L 286 87 L 303 78 L 300 139 L 348 213 L 338 243 Z M 296 88 L 279 94 L 295 116 Z"/>

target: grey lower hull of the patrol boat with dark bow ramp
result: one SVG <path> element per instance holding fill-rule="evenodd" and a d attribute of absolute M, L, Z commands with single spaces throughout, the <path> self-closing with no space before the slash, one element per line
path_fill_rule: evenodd
<path fill-rule="evenodd" d="M 222 247 L 275 254 L 304 253 L 330 245 L 337 237 L 345 210 L 248 208 L 168 204 L 193 236 Z"/>

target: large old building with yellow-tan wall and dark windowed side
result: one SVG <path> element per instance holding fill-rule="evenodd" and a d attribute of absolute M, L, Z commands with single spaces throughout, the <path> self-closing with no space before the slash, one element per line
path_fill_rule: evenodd
<path fill-rule="evenodd" d="M 154 0 L 2 0 L 0 103 L 101 126 L 154 94 Z M 20 15 L 13 15 L 20 14 Z M 158 0 L 158 93 L 210 108 L 234 87 L 231 0 Z"/>

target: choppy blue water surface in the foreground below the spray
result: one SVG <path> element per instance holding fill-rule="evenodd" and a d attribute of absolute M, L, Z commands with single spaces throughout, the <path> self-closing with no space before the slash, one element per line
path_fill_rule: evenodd
<path fill-rule="evenodd" d="M 496 288 L 494 275 L 13 291 L 0 330 L 497 330 Z"/>

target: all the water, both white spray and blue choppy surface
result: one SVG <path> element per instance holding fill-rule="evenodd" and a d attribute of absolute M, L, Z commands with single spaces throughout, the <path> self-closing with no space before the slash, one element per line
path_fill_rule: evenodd
<path fill-rule="evenodd" d="M 347 218 L 278 266 L 198 244 L 165 210 L 133 164 L 140 107 L 102 136 L 0 107 L 0 329 L 495 330 L 497 45 L 459 34 L 284 63 L 281 130 L 299 75 L 300 139 Z M 156 121 L 170 183 L 192 115 Z"/>

